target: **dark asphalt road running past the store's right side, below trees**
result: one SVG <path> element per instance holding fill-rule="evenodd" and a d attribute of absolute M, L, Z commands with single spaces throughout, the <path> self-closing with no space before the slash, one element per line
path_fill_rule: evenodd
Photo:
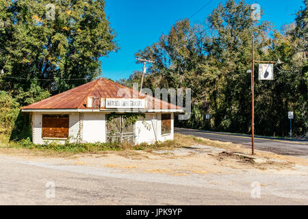
<path fill-rule="evenodd" d="M 236 144 L 244 144 L 251 147 L 251 136 L 244 136 L 233 133 L 222 133 L 213 131 L 200 131 L 196 129 L 175 128 L 176 133 L 184 135 L 192 135 L 210 140 L 218 140 L 221 142 L 232 142 Z M 270 151 L 279 155 L 292 155 L 300 157 L 308 157 L 308 141 L 306 140 L 282 140 L 277 138 L 260 138 L 255 137 L 255 149 L 261 151 Z"/>

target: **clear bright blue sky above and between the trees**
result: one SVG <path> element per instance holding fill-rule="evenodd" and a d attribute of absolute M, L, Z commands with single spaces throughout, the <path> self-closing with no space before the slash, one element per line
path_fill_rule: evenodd
<path fill-rule="evenodd" d="M 141 70 L 134 54 L 140 49 L 157 42 L 159 36 L 168 34 L 170 27 L 182 18 L 189 18 L 210 0 L 105 0 L 105 11 L 120 50 L 102 57 L 103 77 L 113 79 L 128 78 L 133 70 Z M 225 0 L 212 0 L 192 16 L 194 23 L 202 22 L 208 14 Z M 261 21 L 271 21 L 277 28 L 294 21 L 303 0 L 258 0 L 264 10 Z"/>

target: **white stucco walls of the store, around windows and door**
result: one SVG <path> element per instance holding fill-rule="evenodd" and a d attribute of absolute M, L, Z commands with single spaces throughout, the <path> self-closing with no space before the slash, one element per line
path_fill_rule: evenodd
<path fill-rule="evenodd" d="M 61 114 L 34 112 L 32 116 L 32 137 L 35 144 L 44 144 L 44 142 L 57 141 L 64 143 L 60 139 L 43 139 L 42 138 L 42 114 Z M 69 114 L 68 136 L 77 138 L 79 132 L 79 113 L 62 113 Z M 106 142 L 106 121 L 105 114 L 101 112 L 83 112 L 82 114 L 82 131 L 81 138 L 83 142 Z M 146 114 L 146 118 L 140 117 L 134 126 L 135 142 L 153 143 L 155 141 L 173 140 L 174 115 L 171 113 L 171 133 L 162 135 L 161 113 Z M 73 141 L 74 139 L 72 139 Z"/>

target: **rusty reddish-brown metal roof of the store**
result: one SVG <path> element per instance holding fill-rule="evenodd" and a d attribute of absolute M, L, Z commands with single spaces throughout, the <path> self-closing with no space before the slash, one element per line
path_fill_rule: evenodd
<path fill-rule="evenodd" d="M 123 96 L 118 96 L 118 90 Z M 146 99 L 145 110 L 183 110 L 182 107 L 156 99 L 153 96 L 127 88 L 119 83 L 105 78 L 99 78 L 89 83 L 85 83 L 77 88 L 73 88 L 56 94 L 42 101 L 32 103 L 23 107 L 23 110 L 60 110 L 60 109 L 88 109 L 86 107 L 88 96 L 99 98 L 129 98 Z"/>

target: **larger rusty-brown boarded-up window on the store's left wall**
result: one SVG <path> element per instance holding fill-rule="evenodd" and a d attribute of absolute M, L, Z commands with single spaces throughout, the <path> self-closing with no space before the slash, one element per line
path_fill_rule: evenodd
<path fill-rule="evenodd" d="M 66 114 L 42 115 L 42 138 L 68 138 L 68 126 Z"/>

